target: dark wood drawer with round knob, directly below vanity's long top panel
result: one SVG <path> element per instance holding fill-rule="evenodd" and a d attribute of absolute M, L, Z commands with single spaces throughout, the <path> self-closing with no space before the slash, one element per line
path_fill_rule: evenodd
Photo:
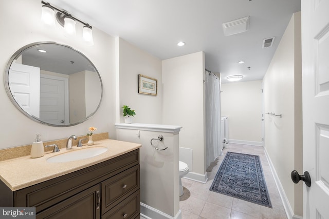
<path fill-rule="evenodd" d="M 139 164 L 101 183 L 102 213 L 139 189 Z"/>

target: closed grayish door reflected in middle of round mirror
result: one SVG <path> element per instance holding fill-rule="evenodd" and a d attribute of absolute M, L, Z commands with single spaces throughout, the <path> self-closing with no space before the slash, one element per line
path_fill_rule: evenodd
<path fill-rule="evenodd" d="M 41 74 L 40 120 L 54 125 L 69 124 L 67 77 Z"/>

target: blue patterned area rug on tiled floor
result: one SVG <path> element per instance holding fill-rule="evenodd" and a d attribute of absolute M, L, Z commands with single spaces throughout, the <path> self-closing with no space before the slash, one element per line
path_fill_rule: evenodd
<path fill-rule="evenodd" d="M 272 208 L 258 155 L 227 152 L 209 190 Z"/>

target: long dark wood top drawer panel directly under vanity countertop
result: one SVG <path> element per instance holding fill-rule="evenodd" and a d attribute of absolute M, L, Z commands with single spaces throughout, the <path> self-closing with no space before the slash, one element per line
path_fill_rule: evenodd
<path fill-rule="evenodd" d="M 139 149 L 14 192 L 14 206 L 40 212 L 90 186 L 139 164 Z"/>

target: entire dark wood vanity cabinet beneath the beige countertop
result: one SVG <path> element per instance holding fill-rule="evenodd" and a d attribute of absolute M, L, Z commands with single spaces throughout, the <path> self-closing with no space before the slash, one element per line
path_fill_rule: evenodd
<path fill-rule="evenodd" d="M 1 182 L 2 207 L 35 207 L 36 218 L 139 218 L 139 149 L 21 190 L 9 190 Z"/>

